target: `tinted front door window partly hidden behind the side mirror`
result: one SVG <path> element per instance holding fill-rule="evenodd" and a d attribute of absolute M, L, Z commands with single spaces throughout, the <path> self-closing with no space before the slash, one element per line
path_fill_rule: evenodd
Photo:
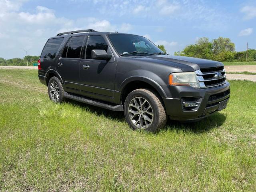
<path fill-rule="evenodd" d="M 92 58 L 92 50 L 102 49 L 108 51 L 108 45 L 104 38 L 100 35 L 90 35 L 86 48 L 86 59 Z"/>

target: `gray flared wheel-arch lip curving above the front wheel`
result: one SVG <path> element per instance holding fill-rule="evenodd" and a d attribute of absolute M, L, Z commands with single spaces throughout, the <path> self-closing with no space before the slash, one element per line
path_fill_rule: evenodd
<path fill-rule="evenodd" d="M 133 81 L 142 81 L 142 82 L 145 82 L 147 84 L 150 84 L 152 87 L 154 87 L 157 90 L 157 92 L 160 94 L 161 97 L 167 97 L 166 93 L 164 92 L 162 87 L 157 82 L 155 82 L 154 80 L 152 80 L 148 77 L 145 77 L 145 76 L 131 76 L 131 77 L 127 78 L 126 80 L 124 80 L 121 83 L 120 88 L 119 88 L 119 92 L 123 92 L 124 87 L 128 83 L 133 82 Z"/>

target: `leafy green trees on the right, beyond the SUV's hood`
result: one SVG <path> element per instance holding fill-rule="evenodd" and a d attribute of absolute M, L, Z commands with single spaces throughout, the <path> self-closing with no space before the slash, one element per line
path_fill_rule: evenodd
<path fill-rule="evenodd" d="M 186 46 L 174 55 L 197 57 L 220 62 L 246 61 L 246 51 L 236 52 L 235 44 L 229 38 L 219 37 L 209 41 L 209 38 L 199 38 L 195 44 Z M 248 61 L 256 61 L 256 50 L 248 50 Z"/>

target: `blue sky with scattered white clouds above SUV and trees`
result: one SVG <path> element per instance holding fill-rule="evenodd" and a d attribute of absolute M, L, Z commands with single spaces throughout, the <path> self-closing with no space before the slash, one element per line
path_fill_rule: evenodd
<path fill-rule="evenodd" d="M 59 32 L 94 29 L 145 36 L 169 54 L 200 37 L 256 48 L 256 0 L 0 0 L 0 57 L 40 55 Z"/>

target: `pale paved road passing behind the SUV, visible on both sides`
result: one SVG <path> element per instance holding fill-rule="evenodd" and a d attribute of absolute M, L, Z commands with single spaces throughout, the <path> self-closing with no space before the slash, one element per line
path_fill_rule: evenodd
<path fill-rule="evenodd" d="M 38 69 L 37 66 L 0 66 L 0 69 Z M 225 66 L 227 72 L 256 72 L 254 65 Z M 256 75 L 226 74 L 229 80 L 250 80 L 256 82 Z"/>

